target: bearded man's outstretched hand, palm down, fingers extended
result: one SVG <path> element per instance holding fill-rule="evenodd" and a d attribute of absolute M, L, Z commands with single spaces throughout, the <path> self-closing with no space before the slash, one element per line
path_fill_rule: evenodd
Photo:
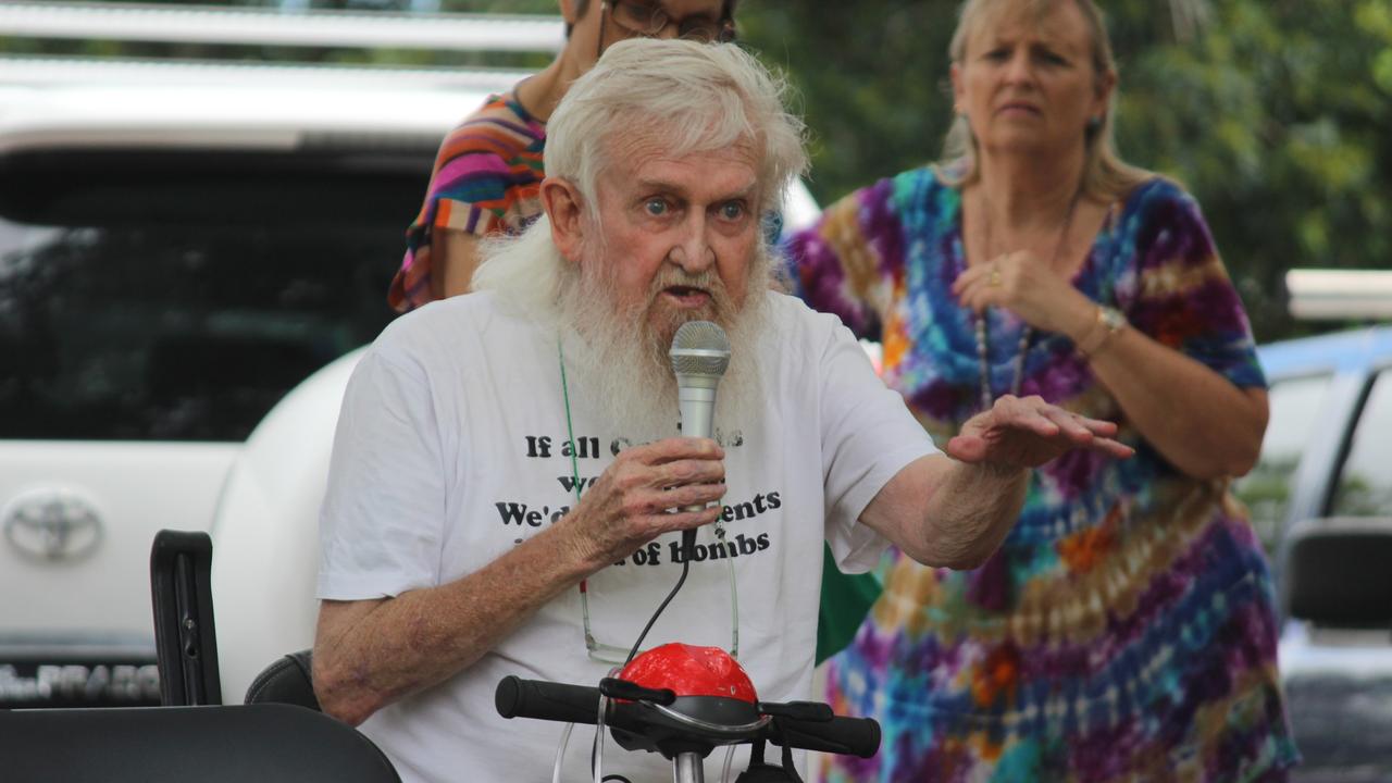
<path fill-rule="evenodd" d="M 1037 468 L 1065 451 L 1089 449 L 1126 458 L 1134 449 L 1112 440 L 1116 425 L 1051 405 L 1043 397 L 1002 396 L 991 410 L 969 418 L 948 440 L 948 454 L 963 463 Z"/>

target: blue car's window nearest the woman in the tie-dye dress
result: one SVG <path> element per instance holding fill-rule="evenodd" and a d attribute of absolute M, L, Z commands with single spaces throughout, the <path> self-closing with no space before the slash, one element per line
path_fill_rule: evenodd
<path fill-rule="evenodd" d="M 1257 467 L 1236 482 L 1237 497 L 1251 511 L 1251 524 L 1268 555 L 1275 553 L 1290 500 L 1290 482 L 1300 454 L 1314 435 L 1331 376 L 1310 375 L 1271 385 L 1271 419 Z"/>

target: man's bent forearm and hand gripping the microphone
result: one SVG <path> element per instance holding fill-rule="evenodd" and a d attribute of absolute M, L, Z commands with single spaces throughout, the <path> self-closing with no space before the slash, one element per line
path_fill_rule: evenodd
<path fill-rule="evenodd" d="M 483 568 L 395 598 L 324 600 L 313 655 L 323 711 L 356 726 L 469 667 L 585 577 L 664 532 L 714 522 L 722 458 L 709 439 L 626 449 L 569 514 Z M 668 513 L 686 506 L 703 509 Z"/>

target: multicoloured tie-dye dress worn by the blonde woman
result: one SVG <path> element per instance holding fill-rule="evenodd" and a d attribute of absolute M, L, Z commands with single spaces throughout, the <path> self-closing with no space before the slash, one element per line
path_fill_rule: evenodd
<path fill-rule="evenodd" d="M 846 196 L 788 247 L 799 293 L 883 343 L 885 382 L 940 443 L 980 407 L 973 316 L 951 294 L 960 226 L 959 191 L 922 169 Z M 1232 383 L 1264 385 L 1197 203 L 1173 183 L 1112 205 L 1073 284 Z M 994 396 L 1023 326 L 987 315 Z M 1022 394 L 1116 421 L 1136 457 L 1075 451 L 1036 471 L 977 570 L 887 557 L 884 595 L 828 673 L 837 711 L 878 719 L 884 743 L 828 779 L 1285 779 L 1296 750 L 1271 577 L 1226 482 L 1165 463 L 1062 334 L 1030 341 Z"/>

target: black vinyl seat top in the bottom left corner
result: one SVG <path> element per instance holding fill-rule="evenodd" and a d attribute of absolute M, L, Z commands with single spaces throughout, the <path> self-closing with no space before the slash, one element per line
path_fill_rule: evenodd
<path fill-rule="evenodd" d="M 400 783 L 372 741 L 285 704 L 0 711 L 7 783 Z"/>

